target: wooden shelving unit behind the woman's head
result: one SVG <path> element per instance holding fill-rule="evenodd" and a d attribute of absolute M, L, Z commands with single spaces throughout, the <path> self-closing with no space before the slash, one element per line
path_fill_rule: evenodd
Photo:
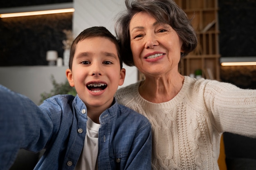
<path fill-rule="evenodd" d="M 197 48 L 181 60 L 181 74 L 202 70 L 202 77 L 220 80 L 218 0 L 175 0 L 193 18 L 191 24 L 198 37 Z"/>

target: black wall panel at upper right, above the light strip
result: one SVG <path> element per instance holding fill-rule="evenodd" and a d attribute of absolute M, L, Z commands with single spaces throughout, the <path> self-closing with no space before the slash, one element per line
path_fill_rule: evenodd
<path fill-rule="evenodd" d="M 256 56 L 256 0 L 219 0 L 222 56 Z"/>

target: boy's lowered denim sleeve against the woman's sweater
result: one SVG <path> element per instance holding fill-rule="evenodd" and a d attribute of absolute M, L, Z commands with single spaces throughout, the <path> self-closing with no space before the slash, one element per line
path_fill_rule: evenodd
<path fill-rule="evenodd" d="M 151 170 L 152 133 L 147 122 L 136 132 L 126 170 Z"/>

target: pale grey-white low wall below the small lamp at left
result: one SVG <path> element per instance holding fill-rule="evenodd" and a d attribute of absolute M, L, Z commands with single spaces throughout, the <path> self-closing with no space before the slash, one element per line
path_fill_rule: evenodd
<path fill-rule="evenodd" d="M 57 66 L 11 66 L 0 67 L 0 84 L 12 91 L 29 97 L 35 104 L 40 102 L 40 94 L 49 93 L 53 88 L 51 75 L 56 82 L 67 80 L 66 67 Z"/>

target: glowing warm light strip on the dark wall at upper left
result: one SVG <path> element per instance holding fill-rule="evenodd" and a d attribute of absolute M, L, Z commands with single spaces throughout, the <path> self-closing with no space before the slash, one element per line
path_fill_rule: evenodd
<path fill-rule="evenodd" d="M 20 16 L 29 16 L 29 15 L 45 15 L 45 14 L 53 14 L 53 13 L 67 13 L 67 12 L 74 12 L 74 11 L 75 11 L 74 8 L 69 8 L 69 9 L 54 9 L 54 10 L 46 10 L 46 11 L 4 13 L 4 14 L 0 14 L 0 18 L 20 17 Z"/>

